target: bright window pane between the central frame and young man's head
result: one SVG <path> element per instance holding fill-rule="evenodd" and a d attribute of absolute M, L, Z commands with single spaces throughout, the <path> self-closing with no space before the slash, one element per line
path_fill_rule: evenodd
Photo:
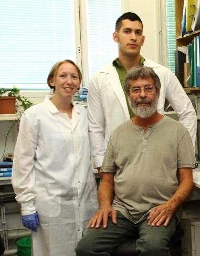
<path fill-rule="evenodd" d="M 119 0 L 89 0 L 87 4 L 88 66 L 91 78 L 99 68 L 118 57 L 118 47 L 112 40 L 112 34 L 121 11 Z"/>

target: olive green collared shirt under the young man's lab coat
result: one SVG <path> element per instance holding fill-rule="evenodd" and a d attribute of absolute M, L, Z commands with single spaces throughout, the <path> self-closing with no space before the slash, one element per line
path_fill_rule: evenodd
<path fill-rule="evenodd" d="M 144 57 L 141 56 L 140 66 L 144 66 L 144 61 L 145 61 Z M 129 114 L 130 114 L 130 117 L 132 118 L 132 117 L 134 117 L 134 113 L 133 113 L 133 111 L 132 111 L 132 109 L 129 105 L 127 94 L 124 91 L 124 83 L 125 83 L 125 77 L 127 76 L 127 70 L 125 69 L 125 67 L 122 66 L 122 64 L 119 61 L 119 58 L 115 58 L 115 60 L 112 62 L 112 65 L 115 66 L 115 68 L 118 72 L 118 75 L 119 75 L 119 78 L 120 78 L 120 83 L 121 83 L 121 86 L 122 86 L 122 89 L 123 89 L 123 92 L 124 92 L 124 95 L 125 95 L 125 99 L 127 101 Z"/>

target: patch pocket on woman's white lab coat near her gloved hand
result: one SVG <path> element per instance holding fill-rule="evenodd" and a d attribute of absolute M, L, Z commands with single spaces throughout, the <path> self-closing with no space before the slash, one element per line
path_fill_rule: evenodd
<path fill-rule="evenodd" d="M 43 184 L 36 197 L 36 209 L 39 215 L 57 217 L 60 214 L 61 186 L 56 183 Z"/>

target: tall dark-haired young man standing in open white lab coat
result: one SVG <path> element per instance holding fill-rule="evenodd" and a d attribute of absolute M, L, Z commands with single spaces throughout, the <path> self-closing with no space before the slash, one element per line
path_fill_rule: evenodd
<path fill-rule="evenodd" d="M 196 139 L 197 117 L 194 107 L 176 76 L 166 67 L 141 56 L 144 43 L 143 24 L 134 13 L 118 18 L 113 33 L 118 43 L 119 57 L 93 75 L 88 90 L 89 135 L 94 168 L 102 165 L 110 133 L 133 117 L 124 93 L 127 72 L 135 66 L 150 66 L 159 76 L 161 90 L 157 111 L 164 114 L 165 98 L 176 111 L 179 121 L 187 128 L 193 141 Z M 150 46 L 151 51 L 151 46 Z"/>

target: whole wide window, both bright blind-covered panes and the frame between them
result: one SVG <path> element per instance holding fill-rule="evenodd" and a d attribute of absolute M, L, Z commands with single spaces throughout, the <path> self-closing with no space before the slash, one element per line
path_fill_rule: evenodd
<path fill-rule="evenodd" d="M 82 3 L 87 8 L 79 8 Z M 120 7 L 120 0 L 1 0 L 0 87 L 47 89 L 51 66 L 66 58 L 79 65 L 87 86 L 117 54 L 112 32 Z"/>

